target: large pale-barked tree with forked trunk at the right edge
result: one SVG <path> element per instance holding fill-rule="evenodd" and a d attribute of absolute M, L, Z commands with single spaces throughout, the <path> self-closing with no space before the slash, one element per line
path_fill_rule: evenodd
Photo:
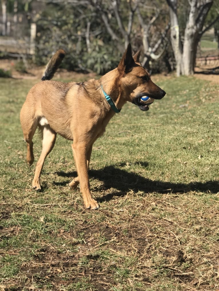
<path fill-rule="evenodd" d="M 177 0 L 166 1 L 169 6 L 171 44 L 176 60 L 177 76 L 180 76 L 180 74 L 194 74 L 198 42 L 202 34 L 219 19 L 219 15 L 208 27 L 203 29 L 204 21 L 213 4 L 213 0 L 190 0 L 190 11 L 184 31 L 184 42 L 182 42 L 177 14 Z"/>

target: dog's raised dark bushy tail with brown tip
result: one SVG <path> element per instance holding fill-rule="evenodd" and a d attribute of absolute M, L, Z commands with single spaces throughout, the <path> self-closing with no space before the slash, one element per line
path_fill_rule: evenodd
<path fill-rule="evenodd" d="M 59 49 L 50 59 L 48 64 L 46 65 L 46 70 L 43 74 L 42 81 L 44 80 L 51 80 L 54 76 L 55 72 L 57 71 L 60 63 L 62 62 L 63 58 L 65 57 L 65 51 L 63 49 Z"/>

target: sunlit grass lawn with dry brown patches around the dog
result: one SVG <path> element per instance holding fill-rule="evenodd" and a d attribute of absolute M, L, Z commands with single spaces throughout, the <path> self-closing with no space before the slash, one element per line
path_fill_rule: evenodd
<path fill-rule="evenodd" d="M 153 78 L 152 78 L 153 79 Z M 84 208 L 71 142 L 58 136 L 31 189 L 19 113 L 36 81 L 0 79 L 0 289 L 215 290 L 219 266 L 219 86 L 155 77 L 167 95 L 126 104 L 93 147 Z M 81 80 L 77 80 L 81 81 Z"/>

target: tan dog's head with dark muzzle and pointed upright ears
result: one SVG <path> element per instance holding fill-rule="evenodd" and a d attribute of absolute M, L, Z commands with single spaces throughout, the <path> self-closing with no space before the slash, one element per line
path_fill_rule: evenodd
<path fill-rule="evenodd" d="M 141 101 L 141 97 L 149 96 L 154 99 L 161 99 L 166 92 L 151 81 L 148 71 L 139 63 L 140 51 L 132 56 L 131 45 L 129 44 L 119 65 L 121 87 L 126 95 L 126 100 L 137 105 L 141 110 L 147 111 L 148 104 Z"/>

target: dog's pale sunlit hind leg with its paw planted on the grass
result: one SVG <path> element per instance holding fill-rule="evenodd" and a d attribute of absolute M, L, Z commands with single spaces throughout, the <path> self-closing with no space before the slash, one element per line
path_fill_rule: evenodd
<path fill-rule="evenodd" d="M 34 190 L 40 190 L 40 175 L 44 165 L 46 156 L 51 152 L 54 147 L 56 132 L 49 125 L 45 125 L 42 129 L 43 132 L 43 143 L 42 152 L 38 162 L 36 163 L 36 170 L 34 175 L 34 180 L 32 182 L 32 187 Z"/>

